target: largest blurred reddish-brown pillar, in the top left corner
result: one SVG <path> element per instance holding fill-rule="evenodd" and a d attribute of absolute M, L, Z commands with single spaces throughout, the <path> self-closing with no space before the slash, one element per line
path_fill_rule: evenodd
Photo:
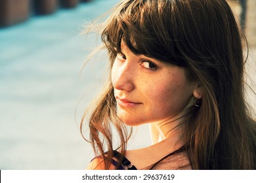
<path fill-rule="evenodd" d="M 30 15 L 30 0 L 0 0 L 0 26 L 22 22 Z"/>

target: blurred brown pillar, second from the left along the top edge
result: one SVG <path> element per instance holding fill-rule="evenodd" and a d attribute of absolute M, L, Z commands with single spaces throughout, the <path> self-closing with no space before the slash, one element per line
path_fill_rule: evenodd
<path fill-rule="evenodd" d="M 51 14 L 58 5 L 58 0 L 33 0 L 35 14 Z"/>

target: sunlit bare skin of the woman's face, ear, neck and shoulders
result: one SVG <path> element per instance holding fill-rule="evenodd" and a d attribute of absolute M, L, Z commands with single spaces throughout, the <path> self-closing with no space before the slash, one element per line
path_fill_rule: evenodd
<path fill-rule="evenodd" d="M 150 124 L 152 146 L 125 153 L 137 169 L 144 169 L 181 148 L 182 127 L 177 126 L 186 108 L 200 96 L 199 84 L 188 82 L 182 67 L 135 55 L 121 42 L 121 52 L 112 67 L 112 84 L 121 122 L 130 126 Z M 170 158 L 171 164 L 162 163 L 158 169 L 177 169 L 180 164 L 189 163 L 184 154 Z M 89 169 L 98 165 L 104 165 L 102 160 L 92 161 Z M 110 169 L 115 169 L 114 165 Z"/>

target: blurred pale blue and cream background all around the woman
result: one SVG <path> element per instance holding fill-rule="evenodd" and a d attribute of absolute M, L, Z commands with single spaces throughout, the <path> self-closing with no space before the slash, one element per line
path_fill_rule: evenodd
<path fill-rule="evenodd" d="M 0 0 L 0 169 L 87 167 L 94 155 L 79 123 L 107 68 L 104 54 L 83 68 L 99 41 L 81 31 L 118 2 Z M 256 1 L 228 3 L 247 35 L 247 73 L 256 81 Z M 129 148 L 149 144 L 148 127 L 135 129 Z"/>

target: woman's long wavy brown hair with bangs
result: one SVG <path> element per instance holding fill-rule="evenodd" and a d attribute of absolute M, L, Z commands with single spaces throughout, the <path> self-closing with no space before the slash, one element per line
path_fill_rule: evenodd
<path fill-rule="evenodd" d="M 192 169 L 256 169 L 256 127 L 245 103 L 247 44 L 226 1 L 125 0 L 100 25 L 110 69 L 123 41 L 134 54 L 183 67 L 188 81 L 200 83 L 201 106 L 188 108 L 182 118 L 181 150 Z M 112 131 L 117 131 L 121 154 L 131 137 L 116 116 L 113 91 L 109 77 L 93 112 L 81 120 L 83 134 L 89 115 L 87 141 L 102 156 L 105 169 L 113 157 Z"/>

